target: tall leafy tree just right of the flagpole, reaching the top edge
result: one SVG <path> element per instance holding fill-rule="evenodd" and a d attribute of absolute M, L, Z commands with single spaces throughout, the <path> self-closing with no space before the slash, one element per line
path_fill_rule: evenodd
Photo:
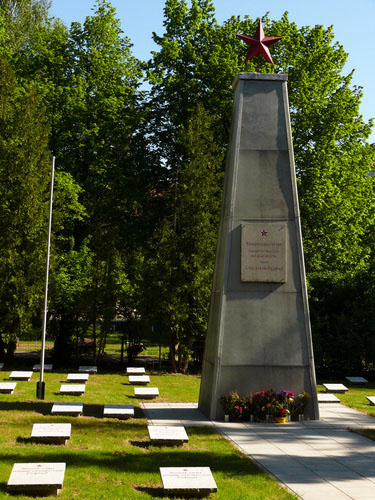
<path fill-rule="evenodd" d="M 69 344 L 79 330 L 77 318 L 85 319 L 83 332 L 90 326 L 94 358 L 99 326 L 104 335 L 111 330 L 117 303 L 129 289 L 125 235 L 134 193 L 128 179 L 134 178 L 131 146 L 140 119 L 141 75 L 130 49 L 115 9 L 99 0 L 83 25 L 73 23 L 70 30 L 60 22 L 41 26 L 37 43 L 23 52 L 18 66 L 23 78 L 41 82 L 58 169 L 78 184 L 78 201 L 85 210 L 84 217 L 69 224 L 68 248 L 60 246 L 57 258 L 64 272 L 57 270 L 55 306 L 65 340 L 59 333 L 56 347 Z M 78 282 L 77 275 L 85 279 Z M 61 300 L 63 292 L 67 301 Z"/>

